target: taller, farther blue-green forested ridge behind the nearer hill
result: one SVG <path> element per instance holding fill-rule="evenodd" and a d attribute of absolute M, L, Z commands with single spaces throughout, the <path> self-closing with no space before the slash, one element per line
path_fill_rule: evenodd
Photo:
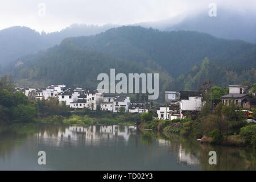
<path fill-rule="evenodd" d="M 162 32 L 139 26 L 112 28 L 96 36 L 67 38 L 62 43 L 142 63 L 154 60 L 174 77 L 201 63 L 205 57 L 222 65 L 242 67 L 255 66 L 256 60 L 255 44 L 218 39 L 199 32 Z"/>

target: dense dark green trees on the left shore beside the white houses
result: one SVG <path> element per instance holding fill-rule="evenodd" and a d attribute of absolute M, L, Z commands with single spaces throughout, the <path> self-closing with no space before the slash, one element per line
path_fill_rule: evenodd
<path fill-rule="evenodd" d="M 57 98 L 49 100 L 30 100 L 23 92 L 16 92 L 11 78 L 0 80 L 0 122 L 35 122 L 38 117 L 67 115 L 68 107 Z"/>

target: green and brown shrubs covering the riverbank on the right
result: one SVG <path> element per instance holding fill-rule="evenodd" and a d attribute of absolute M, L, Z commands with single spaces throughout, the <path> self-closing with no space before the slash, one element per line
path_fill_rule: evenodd
<path fill-rule="evenodd" d="M 140 129 L 162 131 L 167 135 L 180 134 L 201 139 L 201 143 L 256 147 L 256 124 L 247 123 L 240 108 L 234 105 L 218 104 L 213 113 L 203 109 L 194 119 L 159 120 L 144 113 L 141 120 Z"/>

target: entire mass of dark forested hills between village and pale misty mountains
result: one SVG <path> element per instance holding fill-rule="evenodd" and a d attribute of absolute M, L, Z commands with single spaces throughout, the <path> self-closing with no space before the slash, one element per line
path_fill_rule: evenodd
<path fill-rule="evenodd" d="M 110 68 L 117 73 L 160 73 L 162 91 L 196 90 L 204 80 L 219 86 L 256 81 L 254 44 L 190 31 L 112 28 L 67 38 L 60 46 L 19 60 L 23 64 L 11 65 L 6 72 L 21 86 L 96 87 L 97 75 Z"/>

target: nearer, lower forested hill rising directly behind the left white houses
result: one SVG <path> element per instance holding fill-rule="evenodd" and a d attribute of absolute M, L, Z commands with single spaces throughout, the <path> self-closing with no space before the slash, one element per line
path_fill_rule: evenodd
<path fill-rule="evenodd" d="M 51 84 L 66 84 L 97 88 L 97 76 L 115 68 L 118 73 L 160 73 L 160 89 L 170 88 L 173 78 L 153 61 L 136 63 L 122 60 L 107 53 L 86 50 L 73 44 L 61 44 L 36 55 L 20 58 L 24 63 L 7 68 L 20 86 L 43 87 Z M 151 69 L 151 68 L 154 68 Z"/>

